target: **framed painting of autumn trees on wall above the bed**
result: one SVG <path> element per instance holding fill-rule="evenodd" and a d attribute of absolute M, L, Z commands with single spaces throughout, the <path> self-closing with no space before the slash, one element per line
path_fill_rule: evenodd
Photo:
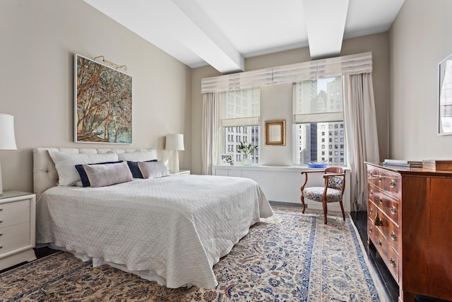
<path fill-rule="evenodd" d="M 75 56 L 75 141 L 132 144 L 132 76 Z"/>

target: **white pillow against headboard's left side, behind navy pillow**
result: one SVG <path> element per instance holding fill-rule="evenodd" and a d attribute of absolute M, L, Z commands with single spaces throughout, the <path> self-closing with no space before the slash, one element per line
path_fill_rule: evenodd
<path fill-rule="evenodd" d="M 55 163 L 58 173 L 58 185 L 81 185 L 80 175 L 76 170 L 76 165 L 85 163 L 102 163 L 105 161 L 118 161 L 117 153 L 66 153 L 50 151 L 49 156 Z"/>

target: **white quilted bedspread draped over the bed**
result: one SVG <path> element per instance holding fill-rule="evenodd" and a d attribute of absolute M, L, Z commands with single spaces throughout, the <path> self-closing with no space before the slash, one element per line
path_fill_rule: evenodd
<path fill-rule="evenodd" d="M 246 178 L 172 175 L 52 187 L 37 202 L 37 243 L 124 265 L 170 288 L 213 288 L 213 265 L 272 214 L 261 188 Z"/>

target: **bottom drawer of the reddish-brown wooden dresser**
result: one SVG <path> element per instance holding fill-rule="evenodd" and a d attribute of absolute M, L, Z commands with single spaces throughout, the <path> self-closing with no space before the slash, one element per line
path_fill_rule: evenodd
<path fill-rule="evenodd" d="M 399 270 L 399 262 L 398 262 L 398 253 L 391 248 L 391 245 L 388 243 L 388 240 L 384 238 L 384 236 L 379 231 L 379 228 L 376 228 L 373 224 L 373 221 L 369 218 L 367 221 L 367 235 L 369 236 L 369 240 L 374 243 L 376 250 L 379 252 L 381 259 L 385 262 L 389 271 L 393 275 L 396 282 L 399 283 L 398 279 L 398 270 Z"/>

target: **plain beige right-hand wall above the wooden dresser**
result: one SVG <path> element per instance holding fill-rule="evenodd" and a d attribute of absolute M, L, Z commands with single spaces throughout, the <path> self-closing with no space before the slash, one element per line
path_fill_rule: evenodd
<path fill-rule="evenodd" d="M 452 1 L 405 0 L 389 31 L 390 156 L 451 159 L 438 136 L 438 64 L 452 52 Z"/>

